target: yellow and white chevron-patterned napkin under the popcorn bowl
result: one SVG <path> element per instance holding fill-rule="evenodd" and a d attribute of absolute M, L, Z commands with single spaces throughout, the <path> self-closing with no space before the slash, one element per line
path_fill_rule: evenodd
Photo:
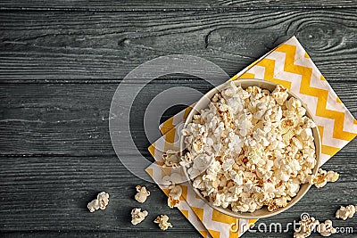
<path fill-rule="evenodd" d="M 320 130 L 320 166 L 357 135 L 357 120 L 329 86 L 296 37 L 278 45 L 231 80 L 239 78 L 260 78 L 281 84 L 303 100 Z M 175 168 L 162 167 L 162 153 L 179 151 L 179 132 L 176 128 L 186 119 L 190 110 L 187 108 L 162 123 L 162 137 L 149 147 L 156 162 L 146 168 L 146 172 L 167 195 L 169 190 L 162 186 L 162 177 L 170 176 Z M 181 184 L 181 187 L 183 193 L 178 208 L 203 237 L 240 237 L 256 221 L 224 215 L 195 196 L 188 183 Z"/>

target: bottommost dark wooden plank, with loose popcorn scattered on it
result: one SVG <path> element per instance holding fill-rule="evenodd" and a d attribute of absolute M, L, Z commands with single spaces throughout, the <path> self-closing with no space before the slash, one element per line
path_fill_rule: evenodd
<path fill-rule="evenodd" d="M 312 187 L 292 209 L 275 217 L 261 219 L 260 222 L 268 226 L 272 222 L 280 222 L 286 226 L 286 223 L 293 222 L 294 219 L 298 221 L 302 212 L 308 212 L 321 220 L 336 220 L 333 217 L 339 205 L 357 203 L 357 160 L 353 158 L 355 152 L 355 148 L 346 148 L 324 166 L 341 174 L 335 184 L 328 184 L 321 189 Z M 106 235 L 110 237 L 126 233 L 129 237 L 136 237 L 143 232 L 148 237 L 179 237 L 183 234 L 199 237 L 178 209 L 167 207 L 165 195 L 156 185 L 143 183 L 113 156 L 12 156 L 2 157 L 0 162 L 0 232 L 5 236 L 43 236 L 41 234 L 45 232 L 52 232 L 48 234 L 54 236 L 73 234 L 77 237 L 89 232 L 102 236 L 104 232 L 103 235 L 108 233 Z M 152 192 L 145 204 L 134 201 L 135 185 L 146 185 Z M 104 211 L 89 213 L 87 201 L 91 201 L 96 193 L 103 190 L 111 195 L 109 206 Z M 129 212 L 133 207 L 149 211 L 149 217 L 139 226 L 129 224 Z M 163 234 L 152 222 L 159 213 L 168 214 L 174 225 Z M 354 227 L 356 219 L 357 217 L 353 217 L 346 221 L 337 221 L 336 226 Z M 291 237 L 291 234 L 290 229 L 287 234 L 270 234 L 270 237 Z M 245 235 L 257 237 L 257 234 L 252 233 Z M 258 237 L 268 237 L 268 234 L 259 235 Z"/>

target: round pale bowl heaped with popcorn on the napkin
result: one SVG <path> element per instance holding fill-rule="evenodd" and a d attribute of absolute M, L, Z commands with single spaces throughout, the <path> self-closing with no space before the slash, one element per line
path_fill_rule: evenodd
<path fill-rule="evenodd" d="M 195 193 L 232 217 L 274 216 L 311 187 L 320 134 L 284 86 L 229 80 L 205 94 L 181 131 L 180 165 Z"/>

